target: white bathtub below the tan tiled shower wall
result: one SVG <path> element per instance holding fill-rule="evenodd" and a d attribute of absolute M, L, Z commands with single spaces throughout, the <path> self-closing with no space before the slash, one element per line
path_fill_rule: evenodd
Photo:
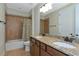
<path fill-rule="evenodd" d="M 6 51 L 18 48 L 24 48 L 24 41 L 17 39 L 6 42 Z"/>

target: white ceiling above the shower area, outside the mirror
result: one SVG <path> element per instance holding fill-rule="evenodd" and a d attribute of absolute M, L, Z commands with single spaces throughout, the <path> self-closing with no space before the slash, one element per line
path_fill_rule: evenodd
<path fill-rule="evenodd" d="M 36 3 L 7 3 L 6 8 L 28 13 L 35 5 L 37 4 Z"/>

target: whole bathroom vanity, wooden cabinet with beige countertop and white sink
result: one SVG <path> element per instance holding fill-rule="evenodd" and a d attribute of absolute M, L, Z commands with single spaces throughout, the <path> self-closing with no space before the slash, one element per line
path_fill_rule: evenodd
<path fill-rule="evenodd" d="M 30 54 L 31 56 L 79 56 L 79 43 L 66 42 L 54 36 L 31 36 Z"/>

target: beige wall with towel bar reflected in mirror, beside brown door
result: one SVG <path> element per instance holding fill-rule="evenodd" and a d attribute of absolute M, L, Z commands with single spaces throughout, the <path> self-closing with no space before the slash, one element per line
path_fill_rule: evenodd
<path fill-rule="evenodd" d="M 58 34 L 58 11 L 50 14 L 49 16 L 49 34 Z"/>

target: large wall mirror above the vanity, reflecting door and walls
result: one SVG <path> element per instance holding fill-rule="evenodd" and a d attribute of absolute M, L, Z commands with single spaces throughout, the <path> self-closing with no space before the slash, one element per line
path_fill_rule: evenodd
<path fill-rule="evenodd" d="M 54 3 L 40 8 L 40 32 L 48 35 L 79 35 L 79 4 Z M 44 7 L 44 8 L 43 8 Z M 48 6 L 49 7 L 49 6 Z M 45 11 L 44 11 L 45 10 Z"/>

